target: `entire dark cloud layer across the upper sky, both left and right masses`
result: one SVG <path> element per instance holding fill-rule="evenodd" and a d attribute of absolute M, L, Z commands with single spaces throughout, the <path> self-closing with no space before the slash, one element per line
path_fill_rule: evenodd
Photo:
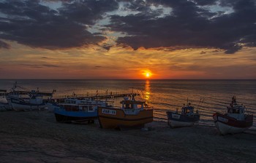
<path fill-rule="evenodd" d="M 256 44 L 255 0 L 80 0 L 61 1 L 57 10 L 40 2 L 0 2 L 0 39 L 48 49 L 98 44 L 106 39 L 102 35 L 105 29 L 90 33 L 89 27 L 122 3 L 121 11 L 133 11 L 133 15 L 116 12 L 105 27 L 126 34 L 117 39 L 123 47 L 209 47 L 230 54 Z M 215 5 L 216 12 L 209 10 L 211 5 Z M 218 10 L 217 5 L 230 7 L 233 12 Z M 170 14 L 162 7 L 169 7 Z M 3 47 L 10 48 L 0 41 Z M 109 50 L 111 45 L 102 47 Z"/>

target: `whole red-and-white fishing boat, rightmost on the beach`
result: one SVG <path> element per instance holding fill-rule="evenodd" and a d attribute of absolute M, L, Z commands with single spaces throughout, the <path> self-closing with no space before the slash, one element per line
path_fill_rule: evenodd
<path fill-rule="evenodd" d="M 222 135 L 244 132 L 252 127 L 253 115 L 245 114 L 246 107 L 236 102 L 236 96 L 233 96 L 230 106 L 227 106 L 227 113 L 215 113 L 213 115 L 214 123 Z"/>

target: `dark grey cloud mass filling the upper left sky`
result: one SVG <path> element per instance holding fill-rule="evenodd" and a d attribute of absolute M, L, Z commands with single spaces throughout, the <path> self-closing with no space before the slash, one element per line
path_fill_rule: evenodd
<path fill-rule="evenodd" d="M 7 17 L 0 17 L 0 38 L 48 49 L 81 47 L 105 39 L 86 28 L 115 9 L 115 1 L 62 2 L 58 11 L 39 0 L 1 2 L 0 11 Z"/>

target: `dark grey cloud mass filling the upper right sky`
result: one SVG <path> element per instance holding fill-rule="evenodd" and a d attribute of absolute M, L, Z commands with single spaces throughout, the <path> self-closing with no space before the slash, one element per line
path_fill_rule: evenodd
<path fill-rule="evenodd" d="M 127 33 L 118 39 L 120 44 L 138 47 L 214 47 L 234 53 L 241 44 L 255 46 L 255 1 L 222 0 L 222 7 L 232 7 L 233 13 L 210 12 L 200 5 L 217 4 L 217 1 L 151 0 L 149 4 L 171 7 L 171 15 L 153 18 L 155 15 L 111 17 L 109 28 Z M 139 3 L 140 4 L 140 3 Z M 131 7 L 134 9 L 134 7 Z"/>

